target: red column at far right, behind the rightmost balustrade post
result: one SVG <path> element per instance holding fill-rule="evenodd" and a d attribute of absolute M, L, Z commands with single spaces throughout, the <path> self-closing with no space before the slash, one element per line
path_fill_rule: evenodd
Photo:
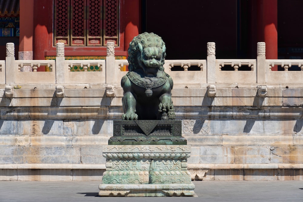
<path fill-rule="evenodd" d="M 266 43 L 266 59 L 278 59 L 278 2 L 258 0 L 258 41 Z M 278 67 L 272 67 L 277 71 Z"/>

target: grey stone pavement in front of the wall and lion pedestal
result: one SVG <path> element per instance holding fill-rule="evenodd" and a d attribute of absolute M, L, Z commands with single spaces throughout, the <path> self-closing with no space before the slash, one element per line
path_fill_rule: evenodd
<path fill-rule="evenodd" d="M 98 181 L 0 181 L 0 201 L 303 201 L 303 181 L 194 181 L 198 197 L 97 197 Z"/>

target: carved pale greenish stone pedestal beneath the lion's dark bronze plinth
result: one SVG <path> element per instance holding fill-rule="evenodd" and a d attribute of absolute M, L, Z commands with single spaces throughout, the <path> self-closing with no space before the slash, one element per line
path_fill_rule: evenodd
<path fill-rule="evenodd" d="M 108 145 L 100 196 L 193 196 L 187 145 Z"/>

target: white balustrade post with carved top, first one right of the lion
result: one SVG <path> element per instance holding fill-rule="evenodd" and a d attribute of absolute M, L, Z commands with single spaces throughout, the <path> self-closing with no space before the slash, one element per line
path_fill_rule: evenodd
<path fill-rule="evenodd" d="M 216 83 L 216 44 L 207 43 L 207 83 Z"/>

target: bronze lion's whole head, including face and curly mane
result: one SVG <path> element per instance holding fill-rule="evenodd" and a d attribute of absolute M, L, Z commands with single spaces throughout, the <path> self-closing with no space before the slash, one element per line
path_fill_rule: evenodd
<path fill-rule="evenodd" d="M 144 32 L 136 36 L 128 48 L 128 70 L 137 68 L 163 70 L 166 47 L 162 38 L 154 33 Z"/>

